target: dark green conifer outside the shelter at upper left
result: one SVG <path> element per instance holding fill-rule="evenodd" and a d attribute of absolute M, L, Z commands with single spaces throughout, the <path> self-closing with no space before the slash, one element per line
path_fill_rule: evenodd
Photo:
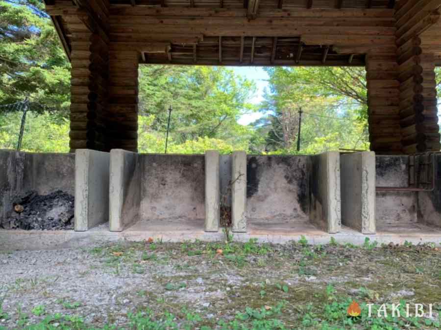
<path fill-rule="evenodd" d="M 0 3 L 0 104 L 31 102 L 32 111 L 67 115 L 70 63 L 39 0 Z"/>

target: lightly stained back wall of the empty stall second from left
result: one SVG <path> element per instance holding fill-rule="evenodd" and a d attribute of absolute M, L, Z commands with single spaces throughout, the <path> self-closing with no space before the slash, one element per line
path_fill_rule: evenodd
<path fill-rule="evenodd" d="M 140 220 L 205 217 L 205 156 L 140 154 Z"/>

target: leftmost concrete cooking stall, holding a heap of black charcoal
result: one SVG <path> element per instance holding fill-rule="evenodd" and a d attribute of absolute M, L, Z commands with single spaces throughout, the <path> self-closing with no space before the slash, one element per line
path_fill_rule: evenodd
<path fill-rule="evenodd" d="M 86 231 L 108 221 L 108 153 L 85 149 L 75 154 L 0 150 L 0 169 L 3 228 L 53 229 L 50 224 L 54 221 L 49 220 L 63 217 L 69 226 L 55 229 Z M 46 226 L 6 226 L 6 222 L 23 222 L 27 208 L 32 208 L 30 216 L 36 224 L 48 222 Z"/>

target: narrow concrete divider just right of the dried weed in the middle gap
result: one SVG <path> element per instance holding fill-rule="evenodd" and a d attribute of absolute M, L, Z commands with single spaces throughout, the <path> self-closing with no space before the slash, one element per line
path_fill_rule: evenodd
<path fill-rule="evenodd" d="M 246 153 L 235 151 L 232 155 L 231 226 L 237 233 L 246 232 Z"/>

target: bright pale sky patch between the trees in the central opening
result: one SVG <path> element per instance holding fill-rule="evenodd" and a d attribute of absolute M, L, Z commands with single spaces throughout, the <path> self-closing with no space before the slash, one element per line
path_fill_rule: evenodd
<path fill-rule="evenodd" d="M 254 97 L 251 99 L 251 103 L 258 104 L 261 102 L 263 100 L 264 88 L 268 87 L 268 82 L 266 80 L 269 79 L 268 74 L 263 70 L 263 68 L 256 66 L 232 66 L 231 68 L 237 74 L 254 81 L 257 91 L 254 94 Z M 260 117 L 262 117 L 262 113 L 260 112 L 244 114 L 238 120 L 238 123 L 241 125 L 248 125 Z"/>

